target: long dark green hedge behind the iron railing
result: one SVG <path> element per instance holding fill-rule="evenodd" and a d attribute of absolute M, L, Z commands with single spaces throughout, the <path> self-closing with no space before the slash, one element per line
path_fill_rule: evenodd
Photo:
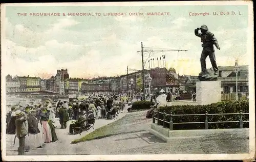
<path fill-rule="evenodd" d="M 249 113 L 249 101 L 222 101 L 208 105 L 173 105 L 160 107 L 159 112 L 165 111 L 166 114 L 173 113 L 173 115 L 180 114 L 224 114 L 224 113 Z M 163 119 L 163 115 L 159 114 L 159 118 Z M 240 115 L 214 115 L 207 116 L 208 122 L 216 121 L 239 121 Z M 249 121 L 249 115 L 243 115 L 243 121 Z M 165 120 L 169 121 L 169 116 Z M 173 116 L 174 123 L 181 122 L 205 122 L 205 116 Z M 162 125 L 162 122 L 160 121 Z M 167 124 L 166 124 L 167 125 Z M 168 127 L 168 125 L 166 126 Z M 204 124 L 174 124 L 174 130 L 181 129 L 204 129 Z M 244 128 L 249 127 L 249 123 L 243 123 Z M 208 129 L 219 128 L 239 128 L 239 123 L 208 123 Z"/>

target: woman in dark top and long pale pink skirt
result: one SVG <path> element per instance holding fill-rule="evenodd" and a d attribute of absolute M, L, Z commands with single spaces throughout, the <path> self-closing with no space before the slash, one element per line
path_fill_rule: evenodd
<path fill-rule="evenodd" d="M 50 143 L 52 140 L 52 132 L 50 125 L 48 123 L 50 112 L 46 109 L 46 106 L 42 107 L 42 110 L 40 111 L 40 121 L 42 124 L 42 129 L 44 132 L 44 142 Z"/>

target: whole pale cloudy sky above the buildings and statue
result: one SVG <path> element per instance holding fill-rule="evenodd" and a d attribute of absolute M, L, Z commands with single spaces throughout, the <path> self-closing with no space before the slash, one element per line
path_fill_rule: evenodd
<path fill-rule="evenodd" d="M 234 11 L 237 15 L 220 15 Z M 68 16 L 67 13 L 95 13 L 101 16 Z M 126 12 L 126 16 L 103 16 Z M 142 16 L 129 16 L 140 12 Z M 169 12 L 168 16 L 147 16 L 147 12 Z M 189 16 L 208 12 L 209 16 Z M 216 12 L 218 15 L 213 15 Z M 238 15 L 240 14 L 242 15 Z M 18 16 L 17 13 L 60 13 L 61 16 Z M 63 16 L 62 13 L 66 13 Z M 187 51 L 145 52 L 166 56 L 167 68 L 180 75 L 201 71 L 201 40 L 194 30 L 206 24 L 221 47 L 216 49 L 218 66 L 248 65 L 247 6 L 63 6 L 6 7 L 5 74 L 49 78 L 57 69 L 68 69 L 70 77 L 91 78 L 125 74 L 126 66 L 142 69 L 141 42 L 144 49 Z M 3 57 L 2 55 L 2 57 Z M 207 68 L 211 67 L 209 58 Z M 159 63 L 160 66 L 160 63 Z M 145 63 L 145 68 L 148 64 Z"/>

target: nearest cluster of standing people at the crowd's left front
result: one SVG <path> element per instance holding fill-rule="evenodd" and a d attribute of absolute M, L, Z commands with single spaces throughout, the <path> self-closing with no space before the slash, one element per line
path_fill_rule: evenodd
<path fill-rule="evenodd" d="M 41 148 L 46 143 L 58 141 L 53 118 L 52 103 L 47 100 L 44 103 L 29 103 L 12 105 L 7 113 L 7 134 L 15 134 L 18 141 L 18 155 L 24 155 L 25 151 Z M 17 143 L 16 141 L 16 143 Z"/>

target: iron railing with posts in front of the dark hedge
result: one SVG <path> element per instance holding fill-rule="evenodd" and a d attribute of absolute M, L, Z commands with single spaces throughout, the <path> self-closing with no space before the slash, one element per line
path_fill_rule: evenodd
<path fill-rule="evenodd" d="M 156 114 L 156 115 L 155 115 Z M 160 114 L 163 114 L 163 119 L 160 119 L 159 116 Z M 249 121 L 243 121 L 242 117 L 243 115 L 248 115 L 249 113 L 227 113 L 227 114 L 208 114 L 207 112 L 205 114 L 182 114 L 182 115 L 174 115 L 172 112 L 170 114 L 166 114 L 165 111 L 158 112 L 158 111 L 153 111 L 153 123 L 156 123 L 157 120 L 157 125 L 162 125 L 163 127 L 169 127 L 170 130 L 174 130 L 174 124 L 205 124 L 205 129 L 208 129 L 208 124 L 209 123 L 239 123 L 239 128 L 243 128 L 243 123 L 249 122 Z M 239 121 L 208 121 L 208 116 L 214 116 L 214 115 L 239 115 L 240 120 Z M 157 116 L 157 117 L 156 117 Z M 175 116 L 205 116 L 205 121 L 204 122 L 180 122 L 180 123 L 174 123 L 173 118 Z M 166 117 L 170 117 L 169 121 L 166 120 Z M 162 124 L 160 124 L 160 121 L 162 121 Z M 168 124 L 168 126 L 167 126 Z"/>

